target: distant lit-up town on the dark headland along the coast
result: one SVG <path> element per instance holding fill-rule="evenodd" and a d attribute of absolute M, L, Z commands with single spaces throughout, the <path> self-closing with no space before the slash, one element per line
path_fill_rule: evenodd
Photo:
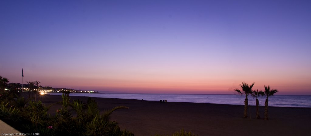
<path fill-rule="evenodd" d="M 95 90 L 75 90 L 70 88 L 53 88 L 49 86 L 40 86 L 39 88 L 30 89 L 29 84 L 21 84 L 21 83 L 10 83 L 8 84 L 10 88 L 15 88 L 17 92 L 28 92 L 28 91 L 37 91 L 39 93 L 63 93 L 63 92 L 70 92 L 70 93 L 99 93 Z"/>

